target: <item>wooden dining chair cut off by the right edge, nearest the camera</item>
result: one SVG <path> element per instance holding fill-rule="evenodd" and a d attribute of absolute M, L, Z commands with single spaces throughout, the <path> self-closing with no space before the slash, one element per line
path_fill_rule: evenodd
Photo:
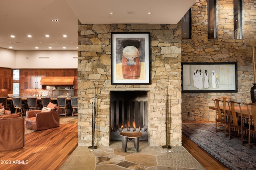
<path fill-rule="evenodd" d="M 256 138 L 256 103 L 244 103 L 247 107 L 247 112 L 249 114 L 249 137 L 248 137 L 248 149 L 250 146 L 256 146 L 256 143 L 252 143 L 252 137 Z"/>

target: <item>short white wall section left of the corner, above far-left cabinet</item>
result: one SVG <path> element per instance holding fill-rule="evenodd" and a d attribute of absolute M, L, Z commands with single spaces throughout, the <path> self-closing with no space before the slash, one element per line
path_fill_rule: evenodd
<path fill-rule="evenodd" d="M 0 67 L 15 68 L 16 51 L 0 48 Z"/>

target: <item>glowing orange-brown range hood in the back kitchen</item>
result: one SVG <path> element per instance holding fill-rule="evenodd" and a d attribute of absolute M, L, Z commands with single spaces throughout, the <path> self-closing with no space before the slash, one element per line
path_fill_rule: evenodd
<path fill-rule="evenodd" d="M 74 85 L 74 77 L 42 77 L 40 85 Z"/>

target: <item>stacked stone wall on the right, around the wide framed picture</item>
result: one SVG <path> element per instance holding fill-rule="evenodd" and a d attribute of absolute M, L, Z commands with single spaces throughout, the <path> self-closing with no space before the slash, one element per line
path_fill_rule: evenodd
<path fill-rule="evenodd" d="M 214 106 L 212 99 L 217 97 L 251 102 L 254 75 L 250 41 L 256 36 L 256 4 L 254 0 L 242 2 L 243 39 L 234 39 L 233 0 L 216 2 L 216 39 L 207 38 L 207 0 L 197 0 L 192 6 L 192 38 L 182 39 L 182 62 L 237 62 L 238 93 L 182 93 L 182 121 L 214 121 L 215 111 L 208 107 Z"/>

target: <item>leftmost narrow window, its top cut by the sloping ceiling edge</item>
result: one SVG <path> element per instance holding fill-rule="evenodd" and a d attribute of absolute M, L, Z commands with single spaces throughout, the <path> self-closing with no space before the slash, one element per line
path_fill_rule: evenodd
<path fill-rule="evenodd" d="M 191 8 L 181 19 L 182 34 L 181 37 L 184 39 L 191 38 Z"/>

